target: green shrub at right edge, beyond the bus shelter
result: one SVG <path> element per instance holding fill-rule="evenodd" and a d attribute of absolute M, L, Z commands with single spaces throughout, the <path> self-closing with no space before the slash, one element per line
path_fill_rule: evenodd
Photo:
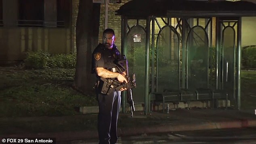
<path fill-rule="evenodd" d="M 256 46 L 242 49 L 242 65 L 246 68 L 256 68 Z"/>

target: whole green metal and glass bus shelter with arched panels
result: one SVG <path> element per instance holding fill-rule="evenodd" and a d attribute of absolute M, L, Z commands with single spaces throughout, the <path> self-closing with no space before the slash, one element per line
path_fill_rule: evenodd
<path fill-rule="evenodd" d="M 218 98 L 240 109 L 241 17 L 255 17 L 256 4 L 131 0 L 116 13 L 121 52 L 129 73 L 136 73 L 133 98 L 145 115 L 152 99 L 163 102 L 163 110 L 165 101 L 212 100 L 213 106 Z"/>

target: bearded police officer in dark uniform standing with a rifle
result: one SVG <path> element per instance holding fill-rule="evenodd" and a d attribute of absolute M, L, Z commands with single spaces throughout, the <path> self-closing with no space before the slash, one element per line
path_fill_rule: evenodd
<path fill-rule="evenodd" d="M 113 29 L 103 31 L 103 44 L 99 44 L 92 53 L 92 73 L 96 73 L 97 88 L 96 95 L 99 104 L 98 114 L 98 134 L 99 144 L 114 144 L 118 140 L 117 122 L 121 104 L 121 91 L 111 90 L 108 94 L 102 94 L 101 89 L 104 81 L 100 78 L 115 78 L 120 82 L 126 82 L 124 75 L 113 72 L 111 69 L 116 67 L 120 51 L 114 44 L 115 32 Z"/>

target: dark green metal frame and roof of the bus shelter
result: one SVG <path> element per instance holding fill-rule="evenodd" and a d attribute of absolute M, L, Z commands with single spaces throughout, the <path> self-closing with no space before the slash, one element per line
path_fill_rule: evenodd
<path fill-rule="evenodd" d="M 204 31 L 204 38 L 208 41 L 205 43 L 207 47 L 207 77 L 206 77 L 206 88 L 209 90 L 209 47 L 212 47 L 213 40 L 215 39 L 215 53 L 216 61 L 214 61 L 214 87 L 209 98 L 228 98 L 232 99 L 236 104 L 237 109 L 240 109 L 241 99 L 241 82 L 240 82 L 240 69 L 241 69 L 241 17 L 255 17 L 256 16 L 256 4 L 252 2 L 239 1 L 239 2 L 228 2 L 228 1 L 197 1 L 197 0 L 132 0 L 127 2 L 116 11 L 116 15 L 122 16 L 122 42 L 121 52 L 127 55 L 127 35 L 130 30 L 128 20 L 135 19 L 136 25 L 139 20 L 146 20 L 146 42 L 145 42 L 145 96 L 144 96 L 144 113 L 149 114 L 151 111 L 151 94 L 162 94 L 163 92 L 157 92 L 157 71 L 154 74 L 154 69 L 158 69 L 157 60 L 154 61 L 155 48 L 155 25 L 157 25 L 160 31 L 157 33 L 156 42 L 159 39 L 159 35 L 165 27 L 169 27 L 171 31 L 178 35 L 178 62 L 181 60 L 181 64 L 178 63 L 177 75 L 178 75 L 178 94 L 172 97 L 172 101 L 189 101 L 189 100 L 200 100 L 199 89 L 193 90 L 193 94 L 186 97 L 182 91 L 183 89 L 189 89 L 188 73 L 189 73 L 189 49 L 193 42 L 190 42 L 189 36 L 196 35 L 194 29 Z M 162 27 L 157 18 L 161 18 L 166 24 Z M 215 23 L 213 22 L 215 19 Z M 171 20 L 176 20 L 176 26 L 171 24 Z M 199 19 L 206 19 L 206 25 L 203 27 L 199 25 Z M 166 22 L 167 20 L 167 22 Z M 191 23 L 195 23 L 191 25 Z M 152 31 L 151 31 L 152 29 Z M 214 31 L 215 29 L 215 31 Z M 228 32 L 226 32 L 226 30 Z M 229 32 L 233 31 L 233 41 L 227 42 Z M 213 34 L 215 33 L 215 35 Z M 227 47 L 227 48 L 226 48 Z M 228 48 L 228 47 L 231 47 Z M 152 50 L 152 61 L 150 63 L 149 50 Z M 227 51 L 229 50 L 229 51 Z M 226 53 L 233 52 L 233 56 L 225 57 Z M 231 61 L 232 60 L 232 61 Z M 155 64 L 156 63 L 156 64 Z M 229 64 L 232 65 L 229 65 Z M 150 66 L 151 66 L 151 77 L 150 77 Z M 224 71 L 227 71 L 224 73 Z M 231 71 L 231 72 L 230 72 Z M 232 75 L 228 75 L 233 73 Z M 155 79 L 156 75 L 156 79 Z M 225 81 L 226 79 L 226 81 Z M 227 80 L 229 79 L 229 80 Z M 151 80 L 151 83 L 150 83 Z M 227 81 L 230 81 L 229 83 Z M 151 84 L 151 87 L 150 87 Z M 231 86 L 230 90 L 226 88 Z M 228 88 L 227 88 L 228 89 Z M 216 96 L 214 93 L 218 90 L 224 90 L 224 97 Z M 211 95 L 212 94 L 212 95 Z M 163 99 L 168 98 L 164 96 Z M 135 97 L 135 95 L 134 95 Z M 122 98 L 122 112 L 126 109 L 126 98 Z M 186 100 L 187 99 L 187 100 Z M 204 99 L 203 97 L 201 99 Z M 136 102 L 136 101 L 135 101 Z M 212 101 L 213 102 L 213 101 Z M 226 100 L 227 102 L 227 100 Z M 164 106 L 164 101 L 163 101 Z M 227 106 L 227 103 L 226 103 Z M 164 107 L 163 107 L 164 109 Z"/>

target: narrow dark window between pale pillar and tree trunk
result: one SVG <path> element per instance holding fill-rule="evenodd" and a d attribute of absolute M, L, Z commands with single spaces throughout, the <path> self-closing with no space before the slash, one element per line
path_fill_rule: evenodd
<path fill-rule="evenodd" d="M 71 0 L 57 0 L 57 27 L 69 27 Z"/>

